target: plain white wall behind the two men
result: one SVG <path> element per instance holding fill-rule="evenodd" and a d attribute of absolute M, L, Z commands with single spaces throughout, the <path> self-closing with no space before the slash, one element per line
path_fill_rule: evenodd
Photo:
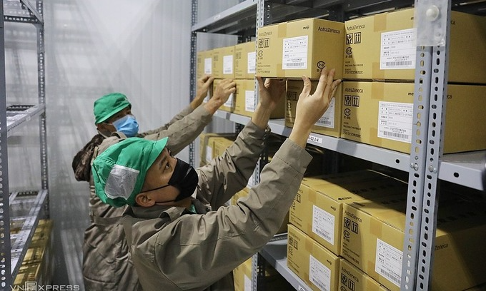
<path fill-rule="evenodd" d="M 238 1 L 199 1 L 199 20 Z M 217 10 L 214 9 L 217 7 Z M 88 183 L 71 160 L 96 130 L 93 102 L 127 94 L 141 131 L 156 128 L 189 102 L 190 0 L 49 0 L 44 3 L 46 120 L 50 215 L 54 219 L 54 283 L 81 285 L 81 245 Z M 5 24 L 7 103 L 37 103 L 36 29 Z M 202 34 L 198 48 L 236 44 Z M 232 128 L 223 121 L 222 131 Z M 188 150 L 179 157 L 187 160 Z M 10 190 L 39 189 L 39 126 L 31 121 L 9 138 Z"/>

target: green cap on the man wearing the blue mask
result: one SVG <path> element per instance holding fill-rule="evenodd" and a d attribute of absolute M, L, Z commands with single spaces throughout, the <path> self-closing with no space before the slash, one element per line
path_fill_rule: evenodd
<path fill-rule="evenodd" d="M 94 124 L 106 121 L 127 106 L 132 106 L 122 93 L 109 93 L 94 101 Z"/>

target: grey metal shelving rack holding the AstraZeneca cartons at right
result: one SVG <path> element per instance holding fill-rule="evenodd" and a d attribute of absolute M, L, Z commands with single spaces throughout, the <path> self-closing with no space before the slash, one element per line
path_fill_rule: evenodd
<path fill-rule="evenodd" d="M 197 0 L 192 1 L 193 7 Z M 485 14 L 486 1 L 441 1 L 441 0 L 287 0 L 265 1 L 246 0 L 230 9 L 192 26 L 192 58 L 195 60 L 196 34 L 235 34 L 239 36 L 257 35 L 257 29 L 266 24 L 288 21 L 303 17 L 327 18 L 344 21 L 351 16 L 373 14 L 390 9 L 415 6 L 417 29 L 431 31 L 431 21 L 426 21 L 428 9 L 440 11 L 434 23 L 442 24 L 442 44 L 422 44 L 417 41 L 417 73 L 415 76 L 414 121 L 412 131 L 412 155 L 398 153 L 342 138 L 311 133 L 308 143 L 337 153 L 351 155 L 372 163 L 409 173 L 407 195 L 407 225 L 402 260 L 401 290 L 428 290 L 431 280 L 438 201 L 437 183 L 440 180 L 452 182 L 476 190 L 486 190 L 483 184 L 486 151 L 442 155 L 442 129 L 445 116 L 445 96 L 447 84 L 448 32 L 451 9 L 471 14 Z M 435 6 L 435 7 L 433 7 Z M 193 9 L 194 13 L 194 9 Z M 193 16 L 194 17 L 194 16 Z M 432 34 L 430 34 L 432 35 Z M 194 54 L 194 56 L 193 56 Z M 195 64 L 195 61 L 192 62 Z M 420 70 L 418 69 L 420 68 Z M 420 73 L 420 71 L 424 73 Z M 191 71 L 194 80 L 195 66 Z M 257 86 L 257 85 L 256 85 Z M 194 87 L 193 87 L 194 88 Z M 257 96 L 258 91 L 255 91 Z M 246 124 L 249 118 L 234 113 L 217 111 L 215 116 L 234 123 Z M 284 126 L 283 119 L 269 122 L 273 133 L 289 136 L 291 128 Z M 275 267 L 296 290 L 310 290 L 287 267 L 286 236 L 274 238 L 253 257 L 252 290 L 264 290 L 259 276 L 262 258 Z M 417 271 L 419 270 L 419 271 Z"/>

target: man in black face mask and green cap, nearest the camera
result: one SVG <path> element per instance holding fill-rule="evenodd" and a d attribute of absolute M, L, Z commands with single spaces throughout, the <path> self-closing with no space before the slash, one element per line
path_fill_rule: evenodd
<path fill-rule="evenodd" d="M 247 185 L 282 81 L 257 77 L 259 104 L 251 121 L 222 156 L 197 170 L 172 156 L 170 138 L 129 138 L 94 160 L 96 195 L 110 205 L 131 206 L 122 220 L 127 257 L 144 291 L 233 290 L 232 270 L 277 233 L 292 205 L 312 159 L 307 138 L 340 82 L 333 78 L 334 69 L 328 74 L 324 68 L 312 95 L 311 81 L 303 78 L 292 133 L 237 205 L 224 203 Z"/>

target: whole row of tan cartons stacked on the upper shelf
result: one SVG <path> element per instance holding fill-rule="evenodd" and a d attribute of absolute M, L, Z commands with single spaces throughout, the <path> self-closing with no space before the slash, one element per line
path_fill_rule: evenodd
<path fill-rule="evenodd" d="M 198 75 L 235 78 L 237 93 L 222 110 L 244 116 L 254 111 L 255 73 L 287 78 L 287 100 L 272 118 L 285 118 L 292 127 L 302 75 L 315 88 L 324 66 L 336 68 L 335 78 L 344 82 L 312 132 L 410 153 L 414 80 L 420 73 L 413 16 L 414 9 L 402 9 L 344 23 L 300 19 L 263 26 L 257 44 L 199 52 Z M 485 150 L 486 19 L 457 11 L 451 19 L 443 150 Z"/>

